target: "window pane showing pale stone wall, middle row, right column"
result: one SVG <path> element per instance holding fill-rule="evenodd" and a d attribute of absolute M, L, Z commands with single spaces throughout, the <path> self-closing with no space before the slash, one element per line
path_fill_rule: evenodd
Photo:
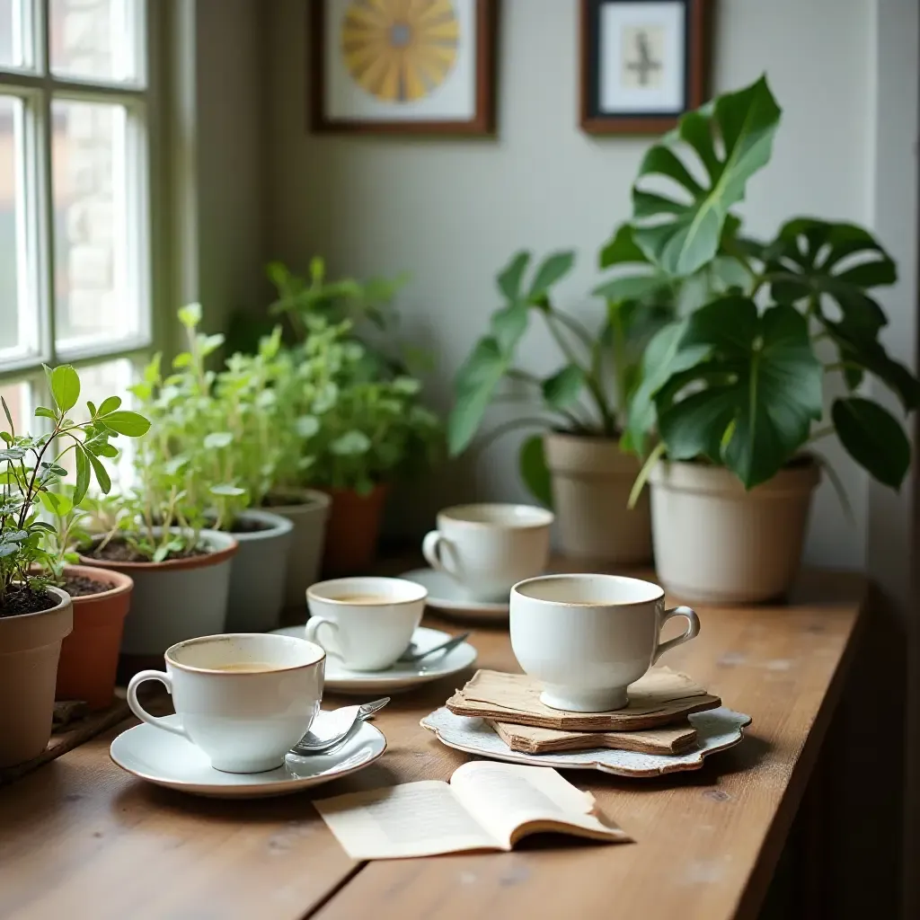
<path fill-rule="evenodd" d="M 55 100 L 52 121 L 58 348 L 137 336 L 141 236 L 130 178 L 139 170 L 129 163 L 127 112 Z"/>

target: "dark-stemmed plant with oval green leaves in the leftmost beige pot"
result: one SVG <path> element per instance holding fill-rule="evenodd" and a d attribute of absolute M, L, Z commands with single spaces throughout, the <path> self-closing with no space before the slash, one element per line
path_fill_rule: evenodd
<path fill-rule="evenodd" d="M 18 584 L 21 590 L 42 592 L 63 576 L 68 561 L 75 505 L 95 479 L 103 493 L 111 489 L 104 460 L 119 452 L 111 441 L 120 435 L 136 438 L 150 427 L 143 415 L 121 408 L 121 397 L 107 397 L 98 407 L 86 402 L 86 421 L 68 413 L 80 398 L 80 377 L 69 364 L 45 368 L 51 408 L 39 407 L 37 418 L 47 419 L 50 431 L 18 434 L 6 402 L 0 403 L 6 429 L 0 431 L 0 612 Z M 59 490 L 68 472 L 63 464 L 74 453 L 75 485 Z M 54 516 L 55 527 L 41 517 Z"/>

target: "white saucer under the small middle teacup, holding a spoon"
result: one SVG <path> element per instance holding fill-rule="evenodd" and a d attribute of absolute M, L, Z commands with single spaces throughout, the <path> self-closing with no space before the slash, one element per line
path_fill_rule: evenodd
<path fill-rule="evenodd" d="M 304 637 L 304 627 L 283 627 L 273 631 L 277 636 Z M 418 646 L 419 651 L 431 649 L 449 638 L 450 633 L 426 627 L 419 627 L 412 633 L 412 641 Z M 385 671 L 350 671 L 338 658 L 327 655 L 325 687 L 341 694 L 364 696 L 380 693 L 390 696 L 436 681 L 439 677 L 464 671 L 474 661 L 476 649 L 469 642 L 458 645 L 446 655 L 433 655 L 431 661 L 420 661 L 418 664 L 402 664 L 397 661 L 392 668 Z"/>

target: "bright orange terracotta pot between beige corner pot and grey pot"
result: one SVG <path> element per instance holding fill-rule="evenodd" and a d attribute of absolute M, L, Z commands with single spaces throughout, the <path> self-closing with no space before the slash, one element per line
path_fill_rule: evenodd
<path fill-rule="evenodd" d="M 115 698 L 115 672 L 124 618 L 134 582 L 112 569 L 67 566 L 66 575 L 109 583 L 108 591 L 72 598 L 74 631 L 63 640 L 55 699 L 82 699 L 90 709 L 105 709 Z"/>

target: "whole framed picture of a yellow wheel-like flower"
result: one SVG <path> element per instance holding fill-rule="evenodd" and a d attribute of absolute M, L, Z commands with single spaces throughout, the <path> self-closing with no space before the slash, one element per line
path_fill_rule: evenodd
<path fill-rule="evenodd" d="M 498 0 L 309 0 L 316 132 L 495 130 Z"/>

